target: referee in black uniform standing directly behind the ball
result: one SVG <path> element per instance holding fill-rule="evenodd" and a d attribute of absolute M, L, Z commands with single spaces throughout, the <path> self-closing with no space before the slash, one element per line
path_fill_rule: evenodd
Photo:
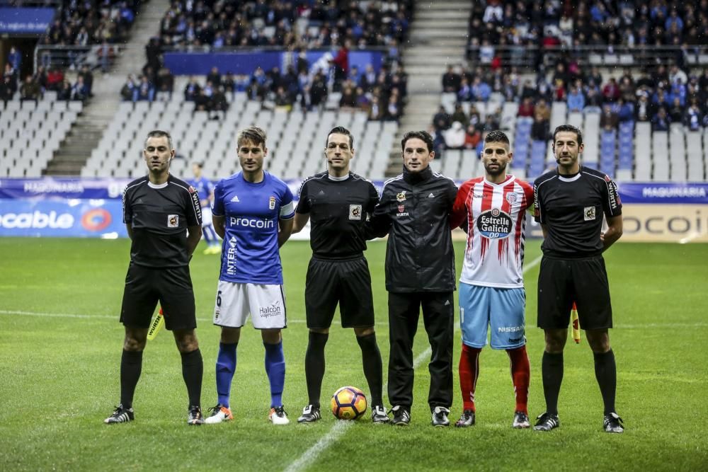
<path fill-rule="evenodd" d="M 379 202 L 374 185 L 349 171 L 354 157 L 354 138 L 348 129 L 335 127 L 327 136 L 324 154 L 327 171 L 302 183 L 295 209 L 297 233 L 311 221 L 312 259 L 307 267 L 305 311 L 309 343 L 305 353 L 305 378 L 309 405 L 298 422 L 321 418 L 320 391 L 324 377 L 324 346 L 339 304 L 343 328 L 354 328 L 361 348 L 364 375 L 372 402 L 371 419 L 389 421 L 382 400 L 381 353 L 374 331 L 374 304 L 371 293 L 364 224 Z"/>

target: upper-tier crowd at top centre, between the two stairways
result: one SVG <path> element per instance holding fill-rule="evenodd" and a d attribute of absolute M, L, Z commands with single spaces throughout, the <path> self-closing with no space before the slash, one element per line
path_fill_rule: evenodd
<path fill-rule="evenodd" d="M 413 1 L 174 0 L 160 25 L 168 47 L 396 45 Z"/>

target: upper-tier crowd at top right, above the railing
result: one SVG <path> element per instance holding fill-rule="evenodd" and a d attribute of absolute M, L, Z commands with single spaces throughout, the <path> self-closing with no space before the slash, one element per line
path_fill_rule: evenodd
<path fill-rule="evenodd" d="M 469 44 L 568 47 L 705 45 L 708 0 L 487 0 L 473 3 Z"/>

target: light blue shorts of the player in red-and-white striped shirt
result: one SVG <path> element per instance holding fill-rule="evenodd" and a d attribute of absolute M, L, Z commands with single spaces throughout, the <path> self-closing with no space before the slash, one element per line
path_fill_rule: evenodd
<path fill-rule="evenodd" d="M 491 326 L 493 349 L 515 349 L 526 344 L 526 293 L 520 289 L 498 289 L 459 284 L 459 326 L 462 343 L 481 349 Z"/>

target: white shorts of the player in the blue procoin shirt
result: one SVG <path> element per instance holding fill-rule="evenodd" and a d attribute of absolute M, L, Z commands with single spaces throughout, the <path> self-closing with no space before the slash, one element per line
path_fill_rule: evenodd
<path fill-rule="evenodd" d="M 282 285 L 240 284 L 219 280 L 214 324 L 241 328 L 251 314 L 256 329 L 287 328 Z"/>

